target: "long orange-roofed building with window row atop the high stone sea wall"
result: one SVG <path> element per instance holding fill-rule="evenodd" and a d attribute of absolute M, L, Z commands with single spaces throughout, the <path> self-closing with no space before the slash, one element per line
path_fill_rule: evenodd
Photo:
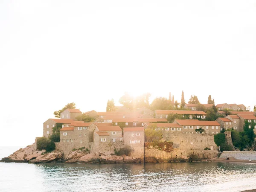
<path fill-rule="evenodd" d="M 217 121 L 198 121 L 198 119 L 175 119 L 173 123 L 181 126 L 181 133 L 195 134 L 195 129 L 204 129 L 205 134 L 218 134 L 221 132 L 221 125 Z"/>

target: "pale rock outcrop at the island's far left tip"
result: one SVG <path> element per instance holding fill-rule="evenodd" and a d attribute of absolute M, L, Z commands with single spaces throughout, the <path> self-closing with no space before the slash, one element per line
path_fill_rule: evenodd
<path fill-rule="evenodd" d="M 28 145 L 25 148 L 20 148 L 8 157 L 4 157 L 0 162 L 26 163 L 29 160 L 35 159 L 36 157 L 40 156 L 44 152 L 45 150 L 37 151 L 35 143 L 33 143 L 32 145 Z"/>

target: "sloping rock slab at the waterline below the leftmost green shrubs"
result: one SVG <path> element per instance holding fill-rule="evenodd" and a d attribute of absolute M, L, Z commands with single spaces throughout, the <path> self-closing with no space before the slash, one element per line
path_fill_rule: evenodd
<path fill-rule="evenodd" d="M 30 160 L 29 163 L 49 163 L 52 161 L 56 161 L 62 159 L 63 151 L 62 150 L 54 150 L 52 152 L 40 155 L 35 158 L 35 160 Z"/>

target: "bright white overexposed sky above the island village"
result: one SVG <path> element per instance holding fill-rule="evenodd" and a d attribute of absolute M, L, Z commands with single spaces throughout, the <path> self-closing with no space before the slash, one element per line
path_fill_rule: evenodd
<path fill-rule="evenodd" d="M 1 0 L 0 146 L 125 91 L 253 106 L 256 0 Z"/>

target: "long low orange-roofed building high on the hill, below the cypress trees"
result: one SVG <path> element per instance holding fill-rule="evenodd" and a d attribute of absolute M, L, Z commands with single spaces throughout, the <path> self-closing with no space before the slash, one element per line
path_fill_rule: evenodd
<path fill-rule="evenodd" d="M 156 110 L 156 118 L 167 118 L 169 114 L 189 115 L 189 119 L 205 119 L 207 113 L 204 111 L 178 111 L 178 110 Z"/>

